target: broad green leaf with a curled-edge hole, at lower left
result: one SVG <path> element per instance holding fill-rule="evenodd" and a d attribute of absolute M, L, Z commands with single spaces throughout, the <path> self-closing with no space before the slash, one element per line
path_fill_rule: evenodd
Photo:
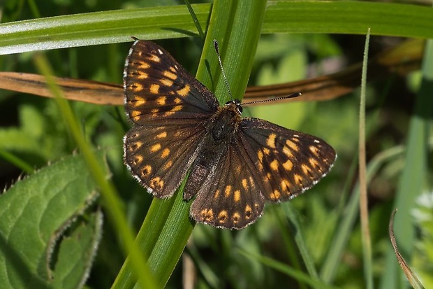
<path fill-rule="evenodd" d="M 91 216 L 89 224 L 75 225 L 74 220 L 97 196 L 79 155 L 45 167 L 4 192 L 0 197 L 2 288 L 76 288 L 83 283 L 100 239 L 101 216 Z M 68 227 L 71 234 L 62 239 Z M 71 244 L 70 238 L 76 241 Z M 73 260 L 65 255 L 67 251 L 75 252 Z"/>

